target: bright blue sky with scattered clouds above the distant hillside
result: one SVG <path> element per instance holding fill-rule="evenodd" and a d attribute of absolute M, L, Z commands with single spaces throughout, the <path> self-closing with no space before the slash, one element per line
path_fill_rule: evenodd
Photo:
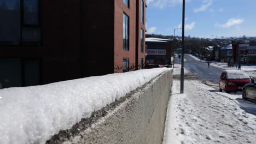
<path fill-rule="evenodd" d="M 147 33 L 173 35 L 182 27 L 182 0 L 147 0 Z M 185 35 L 256 36 L 256 0 L 186 0 Z M 175 35 L 181 35 L 176 30 Z M 214 37 L 211 35 L 215 35 Z"/>

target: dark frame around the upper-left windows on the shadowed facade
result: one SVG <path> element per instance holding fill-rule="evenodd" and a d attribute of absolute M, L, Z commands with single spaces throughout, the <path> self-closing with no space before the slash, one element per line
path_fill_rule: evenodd
<path fill-rule="evenodd" d="M 42 46 L 42 12 L 41 12 L 41 6 L 42 6 L 42 1 L 41 0 L 35 0 L 38 1 L 38 25 L 27 25 L 24 21 L 25 19 L 25 10 L 24 10 L 24 5 L 25 5 L 25 0 L 19 0 L 20 1 L 20 11 L 19 11 L 19 16 L 20 16 L 20 32 L 19 32 L 19 42 L 18 44 L 9 44 L 4 43 L 4 41 L 0 40 L 0 46 L 8 46 L 8 47 L 15 47 L 15 46 Z M 39 41 L 31 41 L 31 42 L 24 42 L 22 40 L 22 29 L 24 28 L 38 28 L 39 29 Z M 11 43 L 11 41 L 9 41 Z"/>

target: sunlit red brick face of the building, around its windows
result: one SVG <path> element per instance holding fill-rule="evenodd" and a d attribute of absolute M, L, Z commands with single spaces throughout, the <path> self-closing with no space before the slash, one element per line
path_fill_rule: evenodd
<path fill-rule="evenodd" d="M 139 2 L 138 9 L 138 20 L 136 21 L 136 2 Z M 130 1 L 130 8 L 127 8 L 123 3 L 123 0 L 115 1 L 115 27 L 114 27 L 114 68 L 123 67 L 123 58 L 129 58 L 130 67 L 136 65 L 135 57 L 136 57 L 136 25 L 138 25 L 138 65 L 140 64 L 140 59 L 143 58 L 145 62 L 145 42 L 144 42 L 144 52 L 141 52 L 141 28 L 145 31 L 145 25 L 141 23 L 141 1 Z M 146 2 L 144 2 L 144 14 L 146 13 Z M 130 18 L 130 39 L 129 39 L 129 51 L 123 50 L 123 13 L 129 16 Z M 144 23 L 146 21 L 146 16 L 144 16 Z M 145 32 L 144 32 L 145 38 Z M 115 69 L 115 73 L 122 73 L 123 69 Z"/>

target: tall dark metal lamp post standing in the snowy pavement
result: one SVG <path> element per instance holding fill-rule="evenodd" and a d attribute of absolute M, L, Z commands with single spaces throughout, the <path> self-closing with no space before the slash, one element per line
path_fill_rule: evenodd
<path fill-rule="evenodd" d="M 185 0 L 182 8 L 182 67 L 181 67 L 181 93 L 184 93 L 184 31 L 185 31 Z"/>

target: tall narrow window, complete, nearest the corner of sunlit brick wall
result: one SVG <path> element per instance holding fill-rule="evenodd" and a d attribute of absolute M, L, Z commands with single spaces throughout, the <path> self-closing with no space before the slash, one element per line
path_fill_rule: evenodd
<path fill-rule="evenodd" d="M 129 50 L 129 16 L 123 16 L 123 49 Z"/>

